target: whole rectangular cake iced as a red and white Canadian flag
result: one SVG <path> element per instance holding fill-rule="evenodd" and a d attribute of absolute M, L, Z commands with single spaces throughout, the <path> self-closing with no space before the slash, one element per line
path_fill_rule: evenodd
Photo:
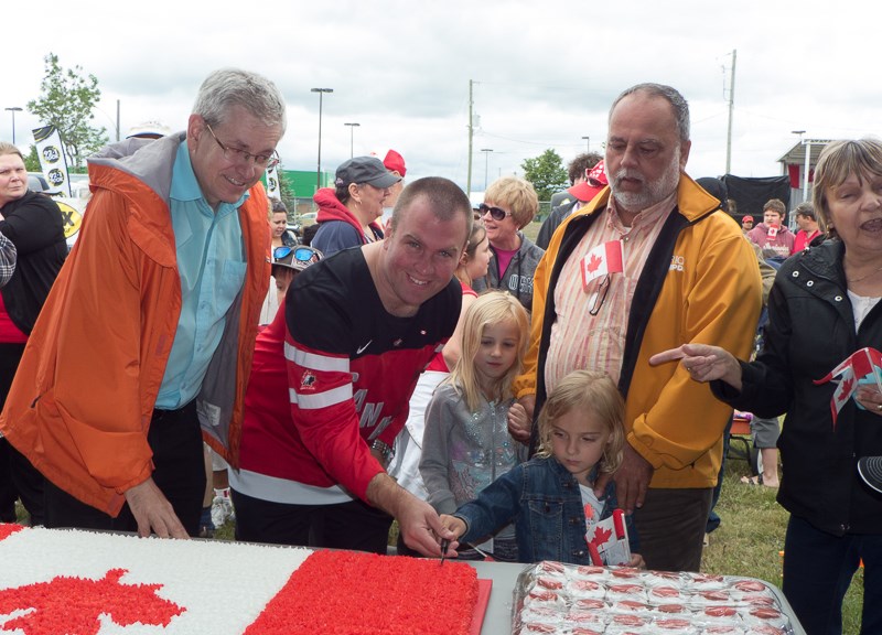
<path fill-rule="evenodd" d="M 462 562 L 0 523 L 3 635 L 421 633 L 439 589 L 453 606 L 433 632 L 474 635 L 491 585 Z"/>

